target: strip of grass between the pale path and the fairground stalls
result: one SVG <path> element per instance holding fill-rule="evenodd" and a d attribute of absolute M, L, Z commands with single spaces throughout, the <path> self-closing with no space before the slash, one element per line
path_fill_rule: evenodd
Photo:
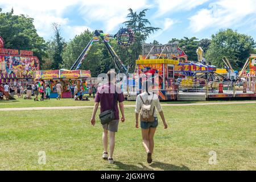
<path fill-rule="evenodd" d="M 64 98 L 57 101 L 55 98 L 50 100 L 34 101 L 24 100 L 23 98 L 17 98 L 16 100 L 0 100 L 0 108 L 14 108 L 14 107 L 55 107 L 55 106 L 92 106 L 94 105 L 94 99 L 89 98 L 90 101 L 75 101 L 69 98 Z M 34 98 L 34 97 L 33 97 Z M 39 97 L 40 99 L 40 97 Z M 189 104 L 189 103 L 202 103 L 202 102 L 226 102 L 226 101 L 162 101 L 162 104 Z M 230 102 L 230 101 L 229 101 Z M 135 101 L 125 101 L 125 105 L 135 105 Z"/>

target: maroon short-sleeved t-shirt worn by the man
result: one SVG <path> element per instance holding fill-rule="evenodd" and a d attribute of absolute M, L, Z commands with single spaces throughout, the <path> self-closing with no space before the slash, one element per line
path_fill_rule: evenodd
<path fill-rule="evenodd" d="M 116 94 L 115 100 L 117 100 L 118 102 L 125 101 L 125 97 L 123 97 L 122 90 L 118 87 L 115 87 L 114 84 L 110 84 L 110 83 L 104 84 L 97 89 L 95 102 L 100 102 L 101 113 L 105 110 L 113 109 L 114 95 L 115 95 L 114 93 Z M 115 102 L 115 105 L 114 105 L 115 119 L 119 119 L 119 110 L 117 106 L 117 101 Z"/>

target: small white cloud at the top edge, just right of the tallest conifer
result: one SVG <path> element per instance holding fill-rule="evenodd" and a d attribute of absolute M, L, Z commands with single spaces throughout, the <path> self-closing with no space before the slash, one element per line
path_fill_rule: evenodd
<path fill-rule="evenodd" d="M 156 5 L 158 6 L 158 12 L 156 17 L 162 16 L 166 13 L 177 12 L 181 10 L 191 10 L 203 3 L 208 2 L 209 0 L 155 0 Z"/>

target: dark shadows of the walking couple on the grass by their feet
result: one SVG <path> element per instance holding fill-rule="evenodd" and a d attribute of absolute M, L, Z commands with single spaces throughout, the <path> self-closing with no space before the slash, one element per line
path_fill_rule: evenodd
<path fill-rule="evenodd" d="M 190 169 L 187 166 L 175 166 L 172 164 L 166 164 L 161 162 L 153 162 L 152 164 L 150 164 L 151 168 L 148 168 L 142 163 L 138 163 L 138 164 L 139 164 L 138 166 L 135 166 L 133 164 L 123 164 L 118 161 L 114 162 L 114 165 L 117 166 L 118 169 L 122 169 L 126 171 L 153 171 L 154 168 L 160 168 L 165 171 L 190 171 Z"/>

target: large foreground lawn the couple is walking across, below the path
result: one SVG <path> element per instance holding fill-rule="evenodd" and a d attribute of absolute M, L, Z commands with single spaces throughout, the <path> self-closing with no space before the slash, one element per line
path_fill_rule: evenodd
<path fill-rule="evenodd" d="M 20 106 L 34 101 L 28 103 Z M 125 109 L 126 122 L 119 123 L 114 164 L 101 159 L 102 129 L 99 121 L 90 125 L 92 109 L 1 111 L 0 170 L 256 170 L 255 108 L 164 107 L 169 128 L 159 119 L 152 164 L 134 127 L 133 108 Z M 46 152 L 46 165 L 38 164 L 39 151 Z M 208 163 L 209 151 L 216 151 L 216 165 Z"/>

